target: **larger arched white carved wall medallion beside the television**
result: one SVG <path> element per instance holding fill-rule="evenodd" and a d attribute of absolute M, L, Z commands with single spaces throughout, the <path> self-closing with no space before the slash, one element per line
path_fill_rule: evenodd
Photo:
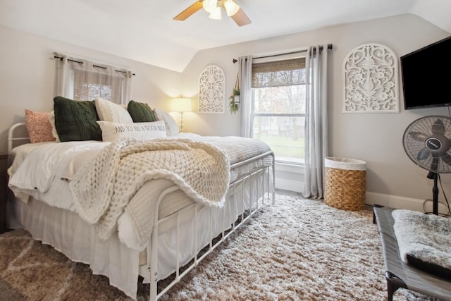
<path fill-rule="evenodd" d="M 399 113 L 397 56 L 382 44 L 363 44 L 343 61 L 343 113 Z"/>

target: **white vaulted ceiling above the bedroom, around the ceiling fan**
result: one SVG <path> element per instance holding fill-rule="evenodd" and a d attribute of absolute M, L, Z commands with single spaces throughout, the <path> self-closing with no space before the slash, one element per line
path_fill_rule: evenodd
<path fill-rule="evenodd" d="M 450 0 L 235 0 L 252 23 L 203 9 L 197 0 L 0 0 L 0 25 L 175 71 L 201 49 L 412 13 L 451 33 Z"/>

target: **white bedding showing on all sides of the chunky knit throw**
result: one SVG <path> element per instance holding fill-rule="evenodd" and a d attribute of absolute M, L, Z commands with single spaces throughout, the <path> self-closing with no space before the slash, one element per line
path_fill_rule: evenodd
<path fill-rule="evenodd" d="M 199 135 L 191 135 L 190 137 L 192 140 L 208 142 L 223 149 L 228 156 L 230 164 L 271 151 L 264 142 L 247 138 L 200 137 Z M 183 138 L 186 138 L 186 135 Z M 16 197 L 23 202 L 27 202 L 29 197 L 34 197 L 52 207 L 75 211 L 73 195 L 69 188 L 70 180 L 73 179 L 81 166 L 94 160 L 107 145 L 109 145 L 109 142 L 84 141 L 45 142 L 31 146 L 16 147 L 12 156 L 16 156 L 17 160 L 14 160 L 11 168 L 8 169 L 10 175 L 8 186 L 15 193 Z M 36 162 L 39 162 L 39 164 L 36 164 Z M 269 164 L 271 164 L 271 159 L 265 158 L 252 162 L 252 164 L 247 164 L 243 168 L 233 170 L 230 174 L 230 182 L 233 182 L 243 173 L 248 173 L 254 168 L 268 166 Z M 155 182 L 158 183 L 159 187 L 152 188 L 154 192 L 160 192 L 171 185 L 167 180 L 156 180 Z M 140 197 L 142 195 L 138 193 L 137 197 L 135 197 L 135 202 L 138 202 Z M 134 199 L 130 201 L 132 204 L 133 202 Z M 172 206 L 171 209 L 173 210 L 175 207 Z M 134 217 L 125 207 L 125 211 L 123 211 L 118 221 L 119 237 L 128 247 L 142 250 L 146 245 L 144 243 L 145 240 L 139 235 L 139 231 L 134 230 L 135 228 Z"/>

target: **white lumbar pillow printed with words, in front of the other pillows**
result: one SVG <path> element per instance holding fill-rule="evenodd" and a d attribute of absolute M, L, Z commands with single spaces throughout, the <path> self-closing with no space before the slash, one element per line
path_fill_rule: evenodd
<path fill-rule="evenodd" d="M 137 139 L 166 138 L 164 121 L 141 123 L 115 123 L 110 121 L 97 121 L 101 128 L 104 142 L 113 142 L 123 137 Z"/>

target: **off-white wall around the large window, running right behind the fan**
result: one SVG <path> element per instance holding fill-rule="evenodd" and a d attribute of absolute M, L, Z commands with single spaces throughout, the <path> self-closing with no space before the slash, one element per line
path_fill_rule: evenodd
<path fill-rule="evenodd" d="M 196 99 L 199 74 L 210 64 L 223 68 L 226 73 L 226 92 L 230 94 L 238 67 L 232 63 L 232 59 L 332 43 L 328 66 L 330 156 L 366 161 L 366 188 L 369 192 L 366 202 L 369 204 L 386 202 L 387 205 L 399 204 L 402 207 L 414 204 L 412 206 L 418 209 L 424 199 L 432 198 L 433 181 L 426 178 L 426 170 L 416 166 L 404 153 L 402 135 L 405 128 L 417 118 L 433 114 L 447 115 L 447 109 L 404 111 L 400 82 L 400 113 L 344 114 L 342 61 L 354 47 L 365 43 L 385 44 L 400 57 L 447 36 L 447 32 L 422 18 L 402 15 L 206 49 L 199 51 L 184 70 L 182 92 Z M 228 111 L 219 116 L 192 113 L 187 116 L 185 124 L 189 130 L 202 135 L 238 135 L 240 128 L 238 115 Z M 451 175 L 443 174 L 441 178 L 445 192 L 451 196 Z M 285 185 L 286 179 L 283 182 Z M 299 176 L 299 185 L 302 185 L 302 176 Z M 443 199 L 441 192 L 440 197 Z"/>

